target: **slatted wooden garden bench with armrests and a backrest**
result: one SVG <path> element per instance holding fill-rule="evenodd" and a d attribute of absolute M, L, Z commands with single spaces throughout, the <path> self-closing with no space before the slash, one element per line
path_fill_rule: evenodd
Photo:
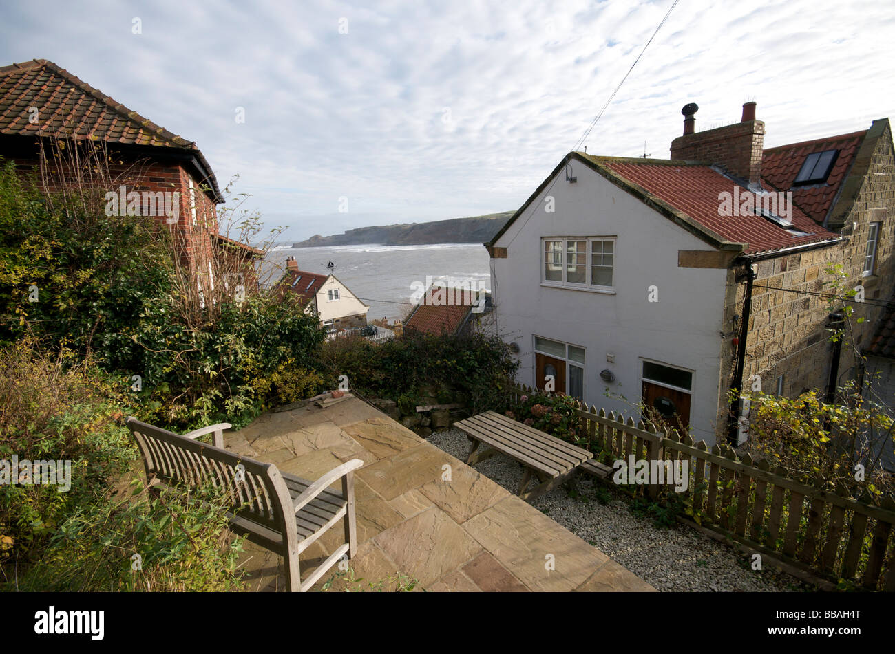
<path fill-rule="evenodd" d="M 360 459 L 338 465 L 316 482 L 281 473 L 276 465 L 241 457 L 224 449 L 224 430 L 230 424 L 214 424 L 183 436 L 167 432 L 134 417 L 127 427 L 137 440 L 146 468 L 149 490 L 211 484 L 226 490 L 234 532 L 277 552 L 286 567 L 286 590 L 307 591 L 328 569 L 357 551 L 354 522 L 354 470 Z M 213 434 L 213 445 L 199 440 Z M 329 484 L 342 480 L 341 495 Z M 302 581 L 298 556 L 339 520 L 344 522 L 345 542 Z"/>

